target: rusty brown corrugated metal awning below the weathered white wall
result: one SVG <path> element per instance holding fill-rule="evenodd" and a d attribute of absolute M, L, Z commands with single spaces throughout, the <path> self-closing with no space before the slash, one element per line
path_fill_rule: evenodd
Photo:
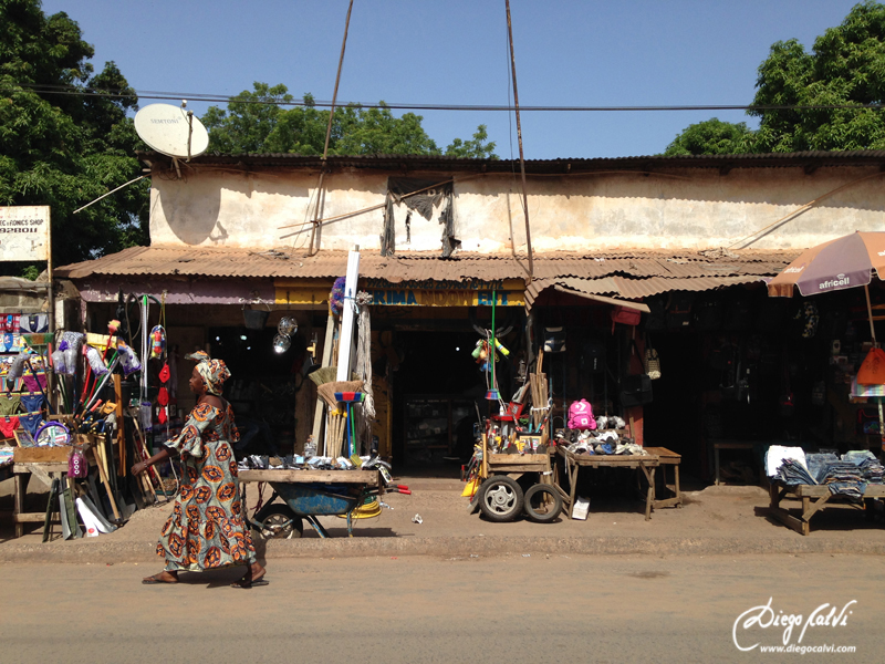
<path fill-rule="evenodd" d="M 753 283 L 780 272 L 799 251 L 752 251 L 702 256 L 694 251 L 613 250 L 534 256 L 535 279 L 525 289 L 531 307 L 546 289 L 564 288 L 638 300 L 674 290 L 704 291 Z M 346 272 L 346 251 L 306 257 L 291 249 L 254 251 L 216 247 L 135 247 L 92 261 L 58 268 L 59 277 L 211 277 L 256 279 L 334 279 Z M 462 281 L 524 279 L 528 259 L 508 255 L 436 253 L 383 257 L 364 251 L 360 273 L 369 279 Z"/>

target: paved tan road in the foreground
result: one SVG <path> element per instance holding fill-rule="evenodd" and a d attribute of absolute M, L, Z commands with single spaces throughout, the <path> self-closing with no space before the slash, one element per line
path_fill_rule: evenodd
<path fill-rule="evenodd" d="M 802 614 L 802 624 L 824 603 L 848 604 L 844 626 L 812 626 L 801 645 L 856 652 L 803 662 L 885 661 L 878 557 L 290 559 L 271 561 L 270 585 L 250 591 L 228 587 L 235 570 L 140 585 L 155 567 L 3 566 L 0 662 L 793 660 L 733 643 L 736 619 L 769 598 L 774 615 Z M 738 632 L 745 647 L 784 636 L 780 626 Z"/>

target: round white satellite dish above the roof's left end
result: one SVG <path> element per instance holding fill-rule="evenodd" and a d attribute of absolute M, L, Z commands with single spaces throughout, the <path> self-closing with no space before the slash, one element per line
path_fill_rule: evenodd
<path fill-rule="evenodd" d="M 135 115 L 135 131 L 147 145 L 170 157 L 189 159 L 209 147 L 209 133 L 192 111 L 150 104 Z"/>

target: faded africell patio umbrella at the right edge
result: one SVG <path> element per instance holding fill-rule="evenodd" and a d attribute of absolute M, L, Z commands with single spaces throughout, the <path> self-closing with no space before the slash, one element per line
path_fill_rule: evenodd
<path fill-rule="evenodd" d="M 768 294 L 775 298 L 791 298 L 794 287 L 805 297 L 864 287 L 866 311 L 870 315 L 870 334 L 873 338 L 872 352 L 876 352 L 878 343 L 873 326 L 873 307 L 870 303 L 873 270 L 882 280 L 885 273 L 885 232 L 856 231 L 803 251 L 780 274 L 769 281 Z M 879 435 L 885 435 L 882 400 L 876 401 Z"/>

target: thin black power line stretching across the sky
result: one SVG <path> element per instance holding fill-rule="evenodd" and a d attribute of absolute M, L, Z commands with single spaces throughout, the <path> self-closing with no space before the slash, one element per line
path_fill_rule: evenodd
<path fill-rule="evenodd" d="M 162 91 L 106 91 L 94 87 L 73 87 L 49 84 L 22 84 L 18 87 L 0 87 L 0 93 L 18 92 L 28 89 L 39 94 L 58 94 L 64 96 L 91 96 L 104 98 L 132 98 L 132 100 L 170 100 L 186 98 L 190 102 L 212 102 L 222 104 L 264 104 L 292 107 L 332 107 L 332 102 L 324 101 L 282 101 L 282 100 L 238 100 L 235 96 L 218 94 L 201 94 L 186 92 Z M 376 103 L 364 104 L 361 102 L 337 102 L 335 106 L 358 106 L 361 108 L 391 108 L 396 111 L 494 111 L 513 112 L 514 106 L 500 104 L 417 104 L 417 103 Z M 885 104 L 676 104 L 676 105 L 645 105 L 645 106 L 523 106 L 521 112 L 555 112 L 555 113 L 612 113 L 612 112 L 659 112 L 659 111 L 839 111 L 839 110 L 881 110 Z"/>

